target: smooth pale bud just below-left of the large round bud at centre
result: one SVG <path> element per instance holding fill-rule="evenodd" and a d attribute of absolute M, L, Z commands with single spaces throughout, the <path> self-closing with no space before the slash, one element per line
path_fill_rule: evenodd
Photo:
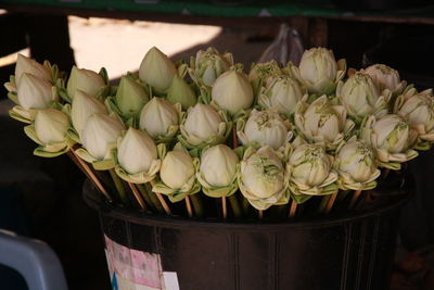
<path fill-rule="evenodd" d="M 206 141 L 218 133 L 222 122 L 212 105 L 197 103 L 189 110 L 184 128 L 189 135 Z"/>

